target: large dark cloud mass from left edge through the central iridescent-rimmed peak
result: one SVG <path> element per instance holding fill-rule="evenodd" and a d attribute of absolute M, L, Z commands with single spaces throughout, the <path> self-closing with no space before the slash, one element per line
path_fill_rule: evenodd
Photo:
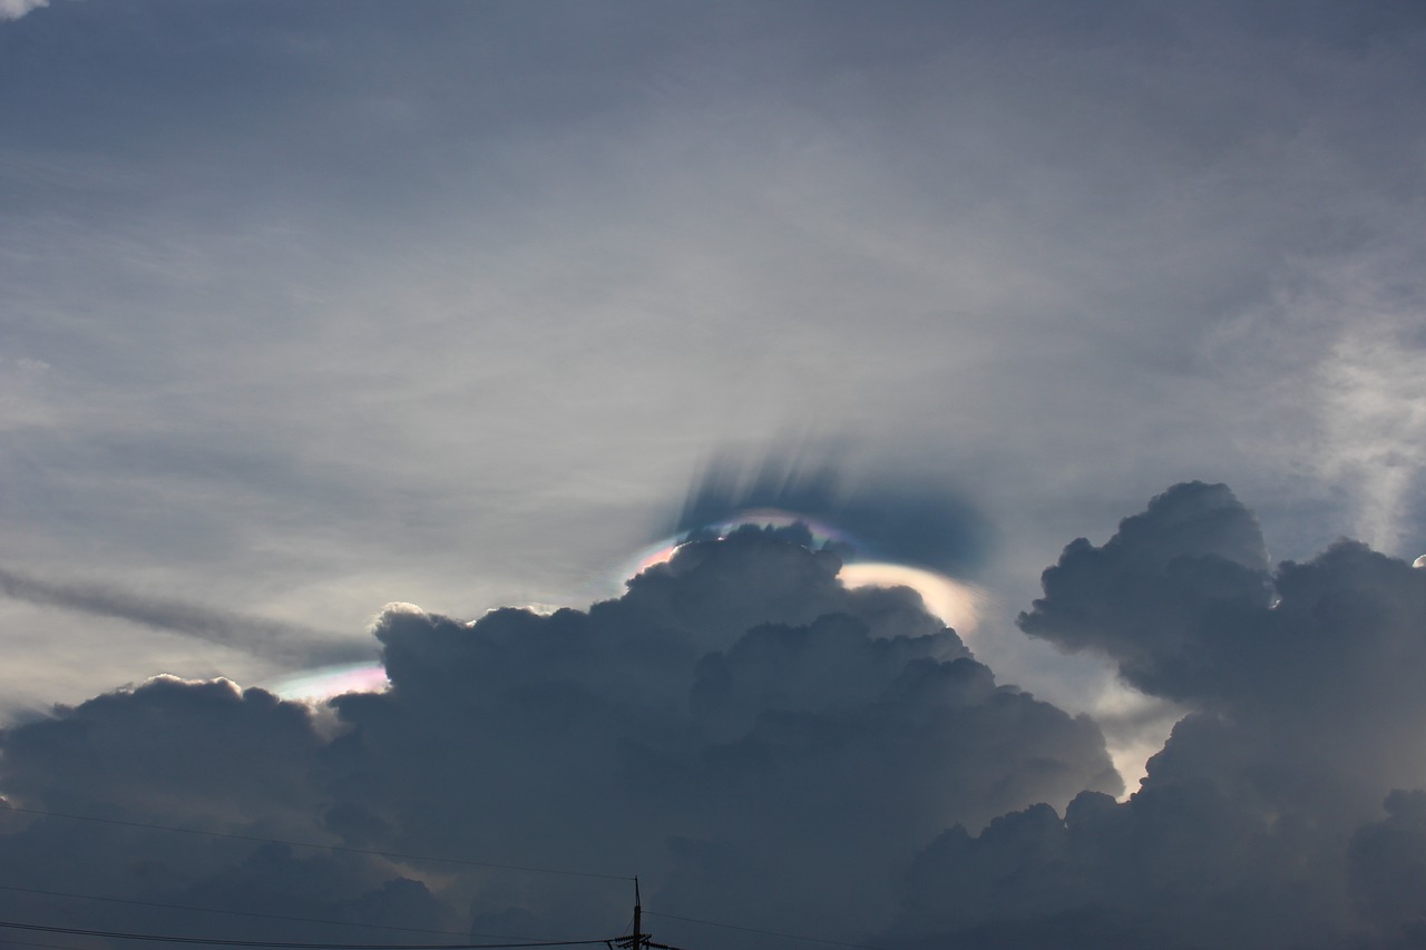
<path fill-rule="evenodd" d="M 799 541 L 687 545 L 588 612 L 388 611 L 391 690 L 339 698 L 332 723 L 225 683 L 106 695 L 6 732 L 0 789 L 130 822 L 639 873 L 652 909 L 831 937 L 887 920 L 893 869 L 941 829 L 1119 789 L 1092 722 L 997 685 L 914 592 L 846 591 L 837 556 Z M 399 926 L 585 937 L 617 933 L 629 900 L 617 882 L 9 826 L 0 849 L 43 864 L 34 886 L 135 900 L 345 920 L 395 892 Z"/>

